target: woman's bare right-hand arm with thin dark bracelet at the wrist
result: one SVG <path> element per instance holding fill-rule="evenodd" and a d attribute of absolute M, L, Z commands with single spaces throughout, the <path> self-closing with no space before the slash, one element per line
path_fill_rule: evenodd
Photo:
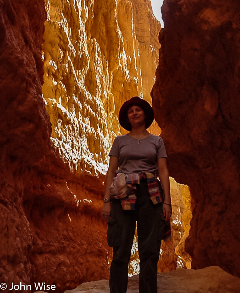
<path fill-rule="evenodd" d="M 163 215 L 165 221 L 169 221 L 172 215 L 171 196 L 170 196 L 170 182 L 169 182 L 169 173 L 167 169 L 167 159 L 158 158 L 158 177 L 161 181 L 162 188 L 165 195 L 165 204 L 163 204 Z"/>

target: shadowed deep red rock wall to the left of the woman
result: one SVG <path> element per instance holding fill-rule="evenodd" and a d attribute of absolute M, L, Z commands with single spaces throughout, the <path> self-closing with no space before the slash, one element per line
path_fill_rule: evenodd
<path fill-rule="evenodd" d="M 71 173 L 50 142 L 42 99 L 46 17 L 42 0 L 1 2 L 0 283 L 46 282 L 63 291 L 107 278 L 108 246 L 103 179 Z"/>

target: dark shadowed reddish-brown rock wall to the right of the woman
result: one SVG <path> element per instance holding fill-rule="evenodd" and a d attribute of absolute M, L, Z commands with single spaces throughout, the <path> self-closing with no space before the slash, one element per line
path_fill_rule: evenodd
<path fill-rule="evenodd" d="M 152 90 L 170 176 L 189 186 L 192 268 L 240 276 L 240 4 L 165 0 Z"/>

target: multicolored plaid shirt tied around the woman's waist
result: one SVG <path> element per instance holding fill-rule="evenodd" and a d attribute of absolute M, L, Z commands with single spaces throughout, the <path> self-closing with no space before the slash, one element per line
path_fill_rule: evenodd
<path fill-rule="evenodd" d="M 153 204 L 164 202 L 164 193 L 160 192 L 158 187 L 159 180 L 150 172 L 138 173 L 118 173 L 117 177 L 113 178 L 110 186 L 110 195 L 113 199 L 120 199 L 123 210 L 135 210 L 137 197 L 135 192 L 137 190 L 136 184 L 140 184 L 142 179 L 147 180 L 148 192 L 150 200 Z M 162 191 L 162 190 L 161 190 Z M 166 241 L 171 238 L 170 221 L 165 223 L 163 240 Z"/>

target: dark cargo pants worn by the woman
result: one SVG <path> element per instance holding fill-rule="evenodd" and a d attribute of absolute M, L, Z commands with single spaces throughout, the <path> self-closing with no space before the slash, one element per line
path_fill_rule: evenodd
<path fill-rule="evenodd" d="M 111 203 L 108 222 L 108 244 L 113 246 L 110 267 L 110 293 L 126 293 L 128 263 L 135 234 L 138 230 L 140 258 L 139 293 L 157 293 L 157 271 L 161 240 L 164 229 L 162 204 L 153 204 L 149 198 L 146 180 L 137 185 L 134 211 L 122 209 L 120 200 Z"/>

